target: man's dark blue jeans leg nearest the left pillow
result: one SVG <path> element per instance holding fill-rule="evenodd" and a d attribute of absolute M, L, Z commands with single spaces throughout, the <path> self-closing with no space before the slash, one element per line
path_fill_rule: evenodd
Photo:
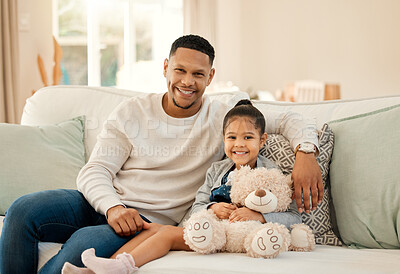
<path fill-rule="evenodd" d="M 36 273 L 39 241 L 64 243 L 82 227 L 106 223 L 76 190 L 25 195 L 6 212 L 0 238 L 0 273 Z M 79 257 L 81 251 L 77 253 Z"/>

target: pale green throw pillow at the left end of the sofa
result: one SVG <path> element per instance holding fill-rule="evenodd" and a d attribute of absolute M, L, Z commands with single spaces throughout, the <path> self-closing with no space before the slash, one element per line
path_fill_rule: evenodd
<path fill-rule="evenodd" d="M 0 124 L 0 215 L 22 195 L 76 188 L 85 164 L 84 119 L 46 126 Z"/>

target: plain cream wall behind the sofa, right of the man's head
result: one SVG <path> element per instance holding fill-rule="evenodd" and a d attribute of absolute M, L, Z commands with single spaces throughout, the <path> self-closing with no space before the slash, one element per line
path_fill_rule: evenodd
<path fill-rule="evenodd" d="M 219 80 L 272 92 L 322 80 L 346 99 L 400 94 L 400 1 L 219 1 Z"/>

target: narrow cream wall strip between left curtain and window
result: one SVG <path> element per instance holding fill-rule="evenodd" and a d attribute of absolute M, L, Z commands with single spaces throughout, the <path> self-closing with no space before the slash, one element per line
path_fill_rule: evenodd
<path fill-rule="evenodd" d="M 18 0 L 19 20 L 28 20 L 28 29 L 20 29 L 20 73 L 21 90 L 17 110 L 20 119 L 25 100 L 32 90 L 43 87 L 37 65 L 40 54 L 47 71 L 48 81 L 52 81 L 53 38 L 52 38 L 52 0 Z"/>

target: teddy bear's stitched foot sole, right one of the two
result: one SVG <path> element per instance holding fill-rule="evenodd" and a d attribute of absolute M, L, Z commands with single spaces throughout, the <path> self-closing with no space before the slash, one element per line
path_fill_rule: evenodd
<path fill-rule="evenodd" d="M 279 253 L 287 251 L 289 239 L 284 226 L 266 224 L 251 237 L 246 249 L 252 257 L 275 258 Z"/>

